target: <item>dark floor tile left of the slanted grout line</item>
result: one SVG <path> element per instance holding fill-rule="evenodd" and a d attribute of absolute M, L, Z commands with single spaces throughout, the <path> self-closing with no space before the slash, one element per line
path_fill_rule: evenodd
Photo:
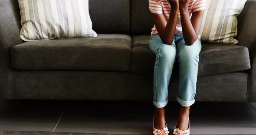
<path fill-rule="evenodd" d="M 1 102 L 0 131 L 53 131 L 61 113 L 50 103 Z"/>

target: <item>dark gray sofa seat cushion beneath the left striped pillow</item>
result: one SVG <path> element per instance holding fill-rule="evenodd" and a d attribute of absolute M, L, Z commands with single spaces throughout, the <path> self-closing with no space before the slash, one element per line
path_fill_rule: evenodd
<path fill-rule="evenodd" d="M 15 70 L 130 71 L 131 36 L 25 42 L 11 49 Z"/>

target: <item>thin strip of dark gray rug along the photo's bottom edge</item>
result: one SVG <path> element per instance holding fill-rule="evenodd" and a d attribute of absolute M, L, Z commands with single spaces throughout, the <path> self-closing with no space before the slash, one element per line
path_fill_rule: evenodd
<path fill-rule="evenodd" d="M 71 133 L 71 132 L 0 131 L 0 135 L 131 135 L 131 134 L 94 134 L 94 133 Z M 135 134 L 132 134 L 132 135 L 135 135 Z M 141 134 L 136 134 L 136 135 L 141 135 Z M 169 135 L 172 135 L 172 134 L 169 134 Z M 231 135 L 231 134 L 225 134 L 225 135 Z M 232 135 L 252 135 L 252 134 L 232 134 Z"/>

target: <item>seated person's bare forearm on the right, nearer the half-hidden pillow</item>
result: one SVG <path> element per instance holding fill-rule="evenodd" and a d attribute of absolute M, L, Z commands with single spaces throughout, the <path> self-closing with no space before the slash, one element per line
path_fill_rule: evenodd
<path fill-rule="evenodd" d="M 193 45 L 194 42 L 197 40 L 198 34 L 196 33 L 191 20 L 190 15 L 188 13 L 188 9 L 180 9 L 181 13 L 181 26 L 182 26 L 182 33 L 185 40 L 186 45 Z"/>

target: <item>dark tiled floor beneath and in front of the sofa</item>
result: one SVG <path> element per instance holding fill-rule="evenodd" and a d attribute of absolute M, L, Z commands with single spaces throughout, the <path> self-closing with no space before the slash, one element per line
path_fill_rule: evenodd
<path fill-rule="evenodd" d="M 169 131 L 177 102 L 166 106 Z M 0 131 L 82 132 L 151 135 L 148 101 L 0 100 Z M 256 103 L 196 102 L 191 135 L 256 135 Z"/>

